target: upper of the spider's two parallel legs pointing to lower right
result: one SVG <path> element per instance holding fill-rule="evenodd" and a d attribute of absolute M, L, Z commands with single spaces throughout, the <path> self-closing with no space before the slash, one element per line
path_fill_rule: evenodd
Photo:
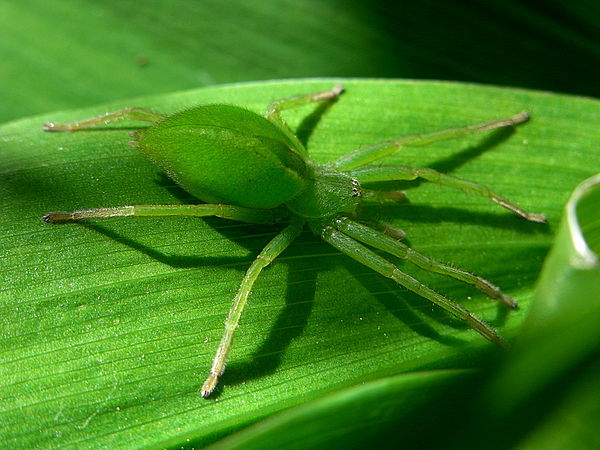
<path fill-rule="evenodd" d="M 384 233 L 354 222 L 346 217 L 335 219 L 333 225 L 337 230 L 343 232 L 353 239 L 356 239 L 357 241 L 362 242 L 363 244 L 383 250 L 384 252 L 394 255 L 398 258 L 405 259 L 419 266 L 421 269 L 429 272 L 446 275 L 470 284 L 486 294 L 488 297 L 499 300 L 511 308 L 517 307 L 517 302 L 515 302 L 508 295 L 504 294 L 498 286 L 490 283 L 488 280 L 473 275 L 465 270 L 447 266 L 439 261 L 428 258 L 427 256 L 413 250 L 406 244 L 398 242 L 396 239 L 393 239 Z"/>

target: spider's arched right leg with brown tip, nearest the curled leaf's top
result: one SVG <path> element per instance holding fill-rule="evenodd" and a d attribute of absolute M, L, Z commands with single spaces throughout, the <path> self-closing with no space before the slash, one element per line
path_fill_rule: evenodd
<path fill-rule="evenodd" d="M 412 181 L 417 178 L 423 178 L 432 183 L 486 197 L 503 208 L 506 208 L 527 220 L 531 220 L 532 222 L 546 222 L 546 216 L 543 214 L 527 212 L 510 200 L 495 193 L 487 186 L 473 181 L 452 177 L 428 167 L 362 167 L 350 170 L 348 173 L 352 177 L 358 179 L 361 183 L 371 183 L 375 181 Z"/>

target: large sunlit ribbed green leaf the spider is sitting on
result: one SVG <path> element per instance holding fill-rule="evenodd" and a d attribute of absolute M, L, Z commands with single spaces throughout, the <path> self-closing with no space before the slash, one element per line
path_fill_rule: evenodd
<path fill-rule="evenodd" d="M 205 401 L 198 388 L 233 293 L 276 229 L 194 218 L 40 220 L 52 210 L 194 201 L 126 145 L 128 124 L 44 133 L 44 122 L 124 106 L 174 112 L 224 102 L 259 112 L 333 83 L 205 88 L 0 128 L 3 442 L 199 446 L 343 387 L 423 368 L 480 367 L 495 355 L 461 323 L 306 232 L 256 284 L 222 390 Z M 286 113 L 318 162 L 402 134 L 531 112 L 514 131 L 406 149 L 389 162 L 479 181 L 546 213 L 549 226 L 429 183 L 402 184 L 410 202 L 367 211 L 405 229 L 414 248 L 516 297 L 521 309 L 507 314 L 469 286 L 399 262 L 505 336 L 518 334 L 562 205 L 598 170 L 599 103 L 468 84 L 344 83 L 347 92 L 331 107 Z"/>

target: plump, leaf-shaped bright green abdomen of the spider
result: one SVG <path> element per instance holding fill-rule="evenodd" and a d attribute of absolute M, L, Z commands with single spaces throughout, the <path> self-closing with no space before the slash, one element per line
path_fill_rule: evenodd
<path fill-rule="evenodd" d="M 205 202 L 274 208 L 306 187 L 304 157 L 285 133 L 236 106 L 176 113 L 137 131 L 133 145 Z"/>

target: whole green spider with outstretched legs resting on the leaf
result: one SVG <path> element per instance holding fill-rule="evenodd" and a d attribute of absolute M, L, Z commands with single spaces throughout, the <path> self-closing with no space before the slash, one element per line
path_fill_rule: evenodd
<path fill-rule="evenodd" d="M 46 222 L 138 216 L 217 216 L 254 224 L 287 223 L 259 253 L 240 284 L 225 321 L 225 332 L 201 394 L 208 397 L 225 371 L 233 334 L 252 286 L 270 264 L 298 237 L 305 225 L 325 242 L 358 262 L 391 278 L 465 321 L 486 339 L 506 346 L 487 323 L 459 304 L 400 271 L 369 247 L 403 258 L 417 266 L 471 284 L 491 298 L 514 308 L 516 302 L 489 281 L 464 270 L 434 261 L 399 241 L 399 230 L 360 223 L 361 203 L 372 199 L 394 200 L 397 192 L 372 191 L 363 183 L 422 178 L 472 192 L 534 222 L 542 214 L 529 213 L 489 188 L 444 175 L 429 168 L 368 166 L 405 146 L 421 146 L 495 128 L 517 125 L 525 112 L 512 117 L 414 134 L 354 150 L 329 164 L 316 164 L 281 117 L 281 112 L 311 102 L 336 99 L 343 86 L 275 101 L 263 116 L 229 105 L 196 106 L 173 115 L 140 108 L 125 108 L 70 124 L 48 123 L 47 131 L 77 131 L 118 120 L 143 120 L 153 125 L 133 133 L 132 146 L 160 167 L 183 189 L 207 202 L 199 205 L 135 205 L 116 208 L 51 212 Z"/>

